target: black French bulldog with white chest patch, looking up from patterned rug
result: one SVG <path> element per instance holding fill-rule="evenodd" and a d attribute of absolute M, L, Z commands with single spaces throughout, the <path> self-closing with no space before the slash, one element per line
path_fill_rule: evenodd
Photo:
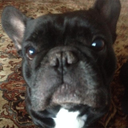
<path fill-rule="evenodd" d="M 41 128 L 86 128 L 107 112 L 119 0 L 37 19 L 6 7 L 2 26 L 23 58 L 26 107 Z"/>

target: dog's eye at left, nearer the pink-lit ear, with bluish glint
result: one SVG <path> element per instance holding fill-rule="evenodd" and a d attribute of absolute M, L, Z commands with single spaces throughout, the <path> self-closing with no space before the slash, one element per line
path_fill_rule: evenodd
<path fill-rule="evenodd" d="M 36 50 L 32 46 L 28 47 L 26 50 L 27 57 L 32 60 L 36 55 Z"/>

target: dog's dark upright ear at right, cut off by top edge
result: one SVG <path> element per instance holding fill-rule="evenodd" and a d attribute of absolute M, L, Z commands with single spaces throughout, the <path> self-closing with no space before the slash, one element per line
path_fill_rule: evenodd
<path fill-rule="evenodd" d="M 94 8 L 107 22 L 112 34 L 116 32 L 116 24 L 119 18 L 121 4 L 119 0 L 97 0 Z"/>

